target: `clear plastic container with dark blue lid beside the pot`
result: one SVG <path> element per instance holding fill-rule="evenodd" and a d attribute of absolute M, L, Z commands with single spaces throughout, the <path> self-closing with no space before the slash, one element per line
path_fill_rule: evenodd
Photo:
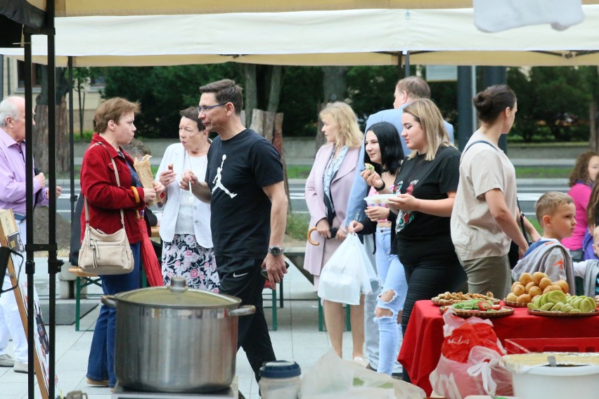
<path fill-rule="evenodd" d="M 260 367 L 258 383 L 262 399 L 297 399 L 302 386 L 302 369 L 296 362 L 277 360 Z"/>

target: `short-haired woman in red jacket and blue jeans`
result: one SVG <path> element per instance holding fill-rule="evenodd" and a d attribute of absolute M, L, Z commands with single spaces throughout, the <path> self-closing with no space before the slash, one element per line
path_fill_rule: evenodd
<path fill-rule="evenodd" d="M 155 199 L 164 187 L 143 188 L 133 167 L 133 159 L 122 150 L 134 138 L 135 113 L 139 103 L 124 98 L 110 98 L 98 107 L 94 125 L 98 133 L 91 138 L 81 166 L 81 192 L 87 199 L 89 224 L 106 234 L 122 227 L 120 209 L 123 210 L 124 228 L 135 260 L 134 271 L 124 275 L 102 275 L 104 294 L 139 288 L 139 259 L 143 234 L 143 209 L 146 202 Z M 112 159 L 117 167 L 120 184 L 117 184 Z M 82 233 L 85 230 L 85 210 L 81 217 Z M 87 365 L 86 383 L 91 386 L 115 386 L 115 322 L 113 308 L 102 306 L 96 321 L 94 337 Z"/>

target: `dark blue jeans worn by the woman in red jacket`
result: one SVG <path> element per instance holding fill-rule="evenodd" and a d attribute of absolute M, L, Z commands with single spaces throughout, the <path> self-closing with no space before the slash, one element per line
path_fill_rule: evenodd
<path fill-rule="evenodd" d="M 131 273 L 124 275 L 103 275 L 102 291 L 105 295 L 114 295 L 119 292 L 138 289 L 139 284 L 139 256 L 141 243 L 131 244 L 133 251 L 134 268 Z M 89 360 L 87 362 L 86 377 L 94 381 L 108 379 L 111 388 L 117 383 L 115 375 L 115 325 L 117 321 L 116 309 L 102 305 L 100 315 L 96 320 L 94 336 L 91 339 Z"/>

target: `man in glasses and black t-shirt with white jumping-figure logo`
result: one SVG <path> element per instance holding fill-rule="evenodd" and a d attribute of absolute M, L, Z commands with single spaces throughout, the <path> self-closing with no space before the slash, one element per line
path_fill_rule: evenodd
<path fill-rule="evenodd" d="M 262 308 L 263 268 L 271 287 L 287 273 L 283 235 L 287 196 L 283 164 L 264 137 L 241 124 L 242 89 L 225 79 L 200 87 L 198 112 L 206 129 L 218 133 L 208 151 L 204 182 L 186 171 L 181 188 L 210 202 L 212 241 L 221 294 L 237 296 L 241 305 L 256 306 L 239 318 L 238 347 L 247 354 L 256 379 L 263 362 L 276 360 Z"/>

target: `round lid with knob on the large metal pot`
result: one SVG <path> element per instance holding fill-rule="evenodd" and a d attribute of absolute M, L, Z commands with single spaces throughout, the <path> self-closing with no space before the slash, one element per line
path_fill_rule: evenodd
<path fill-rule="evenodd" d="M 173 277 L 169 287 L 135 289 L 116 294 L 115 299 L 167 308 L 237 308 L 241 302 L 235 296 L 189 288 L 183 277 Z"/>

